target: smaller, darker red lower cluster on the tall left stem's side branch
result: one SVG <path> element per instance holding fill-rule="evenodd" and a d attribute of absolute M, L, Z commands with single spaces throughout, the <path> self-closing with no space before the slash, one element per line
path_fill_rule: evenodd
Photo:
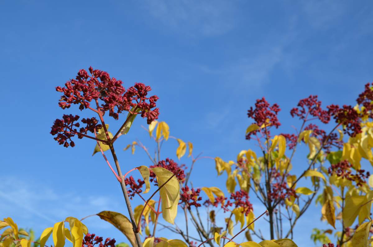
<path fill-rule="evenodd" d="M 76 128 L 79 128 L 80 124 L 76 121 L 78 121 L 79 116 L 78 115 L 63 115 L 62 119 L 56 119 L 53 122 L 53 126 L 51 126 L 51 135 L 56 135 L 57 137 L 54 137 L 53 139 L 58 142 L 58 144 L 62 145 L 64 147 L 74 147 L 75 143 L 71 140 L 71 137 L 75 136 L 75 134 L 78 135 L 78 138 L 83 138 L 82 135 L 79 134 L 87 134 L 88 131 L 94 132 L 95 129 L 101 129 L 102 125 L 97 124 L 98 121 L 95 118 L 83 118 L 82 123 L 86 124 L 84 128 L 80 128 L 79 131 Z M 76 127 L 76 128 L 75 128 Z M 70 141 L 70 144 L 68 143 Z"/>

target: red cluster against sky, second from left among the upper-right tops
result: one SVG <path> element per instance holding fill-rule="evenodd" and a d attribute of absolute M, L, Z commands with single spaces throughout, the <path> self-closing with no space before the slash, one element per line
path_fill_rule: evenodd
<path fill-rule="evenodd" d="M 317 95 L 310 95 L 308 98 L 301 99 L 298 107 L 294 107 L 290 111 L 291 116 L 298 116 L 300 119 L 307 120 L 308 115 L 318 118 L 324 124 L 329 123 L 330 116 L 327 110 L 321 108 L 321 101 L 317 99 Z"/>

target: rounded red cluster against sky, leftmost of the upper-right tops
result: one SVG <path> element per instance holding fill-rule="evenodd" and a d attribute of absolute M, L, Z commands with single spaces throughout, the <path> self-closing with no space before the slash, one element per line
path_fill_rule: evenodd
<path fill-rule="evenodd" d="M 277 114 L 280 111 L 278 104 L 270 104 L 264 99 L 258 99 L 255 103 L 255 109 L 250 107 L 250 110 L 247 111 L 248 118 L 252 118 L 255 121 L 255 124 L 261 126 L 262 124 L 267 124 L 266 120 L 269 119 L 269 125 L 275 126 L 276 129 L 281 125 L 278 121 Z M 246 135 L 246 139 L 250 140 L 251 135 L 255 134 L 257 131 L 251 131 Z M 269 130 L 267 130 L 269 135 Z"/>

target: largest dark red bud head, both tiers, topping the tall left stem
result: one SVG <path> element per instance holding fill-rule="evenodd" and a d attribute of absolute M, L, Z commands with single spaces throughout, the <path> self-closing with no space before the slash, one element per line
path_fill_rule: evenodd
<path fill-rule="evenodd" d="M 81 69 L 75 79 L 70 79 L 65 83 L 65 87 L 56 87 L 56 91 L 63 94 L 59 100 L 59 106 L 62 109 L 78 104 L 80 110 L 88 108 L 100 116 L 109 111 L 109 116 L 116 120 L 123 112 L 140 114 L 142 118 L 147 118 L 148 124 L 158 119 L 159 109 L 155 107 L 159 98 L 156 95 L 148 97 L 148 92 L 151 91 L 150 86 L 135 83 L 126 90 L 122 86 L 122 81 L 110 78 L 107 72 L 94 70 L 92 67 L 89 71 L 91 75 Z M 93 106 L 91 106 L 92 102 Z M 57 134 L 54 140 L 65 147 L 74 147 L 71 137 L 78 135 L 82 138 L 82 134 L 87 134 L 88 131 L 94 133 L 101 128 L 97 119 L 87 118 L 82 119 L 82 123 L 87 126 L 78 131 L 76 129 L 79 127 L 79 123 L 76 123 L 78 119 L 78 115 L 63 115 L 62 119 L 56 119 L 50 132 L 52 135 Z"/>

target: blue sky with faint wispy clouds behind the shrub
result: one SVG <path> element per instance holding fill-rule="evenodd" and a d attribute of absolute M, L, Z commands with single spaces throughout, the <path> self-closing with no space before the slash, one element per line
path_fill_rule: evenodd
<path fill-rule="evenodd" d="M 171 135 L 191 141 L 195 153 L 224 160 L 255 148 L 245 129 L 256 99 L 278 103 L 279 132 L 290 132 L 300 125 L 289 115 L 299 99 L 317 94 L 324 105 L 355 104 L 373 81 L 371 1 L 1 1 L 0 9 L 0 217 L 37 235 L 66 216 L 126 212 L 104 160 L 91 157 L 94 143 L 79 140 L 66 149 L 49 134 L 54 119 L 78 113 L 59 109 L 54 87 L 79 69 L 107 71 L 126 88 L 151 85 Z M 150 165 L 141 150 L 121 151 L 135 138 L 153 150 L 140 125 L 146 121 L 136 119 L 116 142 L 124 171 Z M 172 141 L 163 158 L 176 159 Z M 305 167 L 305 154 L 295 157 L 295 172 Z M 194 186 L 223 186 L 213 168 L 212 160 L 197 163 Z M 252 199 L 259 215 L 263 207 Z M 320 210 L 311 205 L 297 223 L 302 246 L 314 246 L 312 228 L 329 228 L 319 222 Z M 85 223 L 125 240 L 98 218 Z"/>

